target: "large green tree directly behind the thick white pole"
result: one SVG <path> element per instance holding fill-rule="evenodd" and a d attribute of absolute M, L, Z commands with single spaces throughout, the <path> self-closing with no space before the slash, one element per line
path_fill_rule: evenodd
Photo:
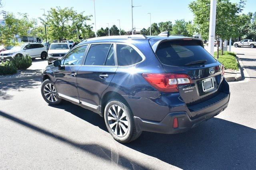
<path fill-rule="evenodd" d="M 244 0 L 240 0 L 239 3 L 232 3 L 230 0 L 217 0 L 215 27 L 215 39 L 217 41 L 229 39 L 237 35 L 237 14 L 242 11 L 244 4 Z M 200 34 L 204 39 L 208 39 L 210 0 L 195 0 L 190 2 L 189 8 L 194 13 L 194 23 L 198 25 Z M 217 47 L 219 49 L 219 43 Z M 219 51 L 217 50 L 218 57 Z"/>

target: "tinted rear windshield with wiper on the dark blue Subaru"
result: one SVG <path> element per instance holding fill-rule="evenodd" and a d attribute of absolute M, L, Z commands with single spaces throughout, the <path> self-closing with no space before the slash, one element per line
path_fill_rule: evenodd
<path fill-rule="evenodd" d="M 216 62 L 199 40 L 165 41 L 158 46 L 156 55 L 161 63 L 172 66 L 185 66 L 202 60 L 206 61 L 204 64 Z"/>

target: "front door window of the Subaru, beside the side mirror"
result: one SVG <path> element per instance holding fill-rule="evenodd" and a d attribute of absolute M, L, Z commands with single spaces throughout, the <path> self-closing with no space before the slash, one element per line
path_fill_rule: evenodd
<path fill-rule="evenodd" d="M 70 51 L 64 59 L 64 65 L 80 65 L 82 64 L 84 51 L 86 50 L 87 45 L 77 47 Z"/>

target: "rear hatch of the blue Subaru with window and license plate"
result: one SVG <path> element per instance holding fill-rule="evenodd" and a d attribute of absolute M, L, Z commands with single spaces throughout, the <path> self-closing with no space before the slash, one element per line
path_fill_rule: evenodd
<path fill-rule="evenodd" d="M 214 59 L 198 39 L 164 41 L 158 45 L 156 55 L 169 74 L 187 74 L 191 81 L 178 85 L 180 100 L 188 108 L 214 98 L 221 92 L 222 65 Z M 203 107 L 203 106 L 202 106 Z M 199 115 L 194 112 L 192 117 Z"/>

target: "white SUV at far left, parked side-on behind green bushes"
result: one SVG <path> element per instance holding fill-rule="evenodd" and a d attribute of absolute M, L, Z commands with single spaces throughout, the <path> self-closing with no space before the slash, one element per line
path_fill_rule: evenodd
<path fill-rule="evenodd" d="M 15 57 L 30 55 L 32 59 L 41 57 L 47 59 L 46 47 L 40 43 L 26 43 L 18 47 L 12 47 L 10 50 L 0 52 L 0 61 L 10 61 Z"/>

